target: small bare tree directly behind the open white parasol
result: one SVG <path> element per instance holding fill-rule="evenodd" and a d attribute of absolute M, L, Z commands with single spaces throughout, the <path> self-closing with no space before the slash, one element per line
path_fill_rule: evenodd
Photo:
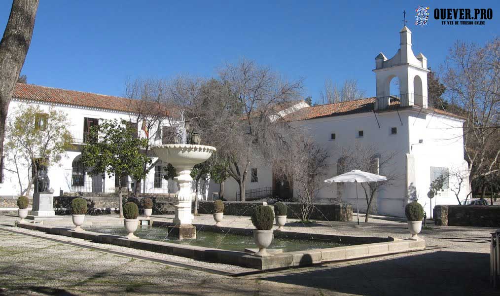
<path fill-rule="evenodd" d="M 387 177 L 385 181 L 360 183 L 366 200 L 365 222 L 368 221 L 375 193 L 399 179 L 399 174 L 393 169 L 396 155 L 395 151 L 379 152 L 373 145 L 356 144 L 353 147 L 341 148 L 344 170 L 359 169 Z"/>

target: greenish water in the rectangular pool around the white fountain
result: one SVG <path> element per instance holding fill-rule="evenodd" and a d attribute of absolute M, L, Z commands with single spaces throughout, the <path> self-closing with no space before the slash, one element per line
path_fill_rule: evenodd
<path fill-rule="evenodd" d="M 84 229 L 99 233 L 113 234 L 124 236 L 127 234 L 123 226 L 92 226 L 84 227 Z M 238 235 L 232 234 L 230 231 L 227 233 L 211 232 L 198 230 L 196 238 L 178 240 L 173 237 L 167 236 L 166 227 L 147 227 L 139 226 L 134 232 L 135 236 L 166 241 L 171 243 L 196 245 L 202 247 L 220 248 L 225 250 L 243 251 L 245 248 L 256 248 L 252 235 Z M 347 243 L 338 243 L 336 241 L 324 239 L 295 239 L 295 238 L 276 238 L 272 239 L 269 248 L 282 248 L 284 252 L 299 251 L 315 248 L 327 248 L 336 246 L 345 246 Z"/>

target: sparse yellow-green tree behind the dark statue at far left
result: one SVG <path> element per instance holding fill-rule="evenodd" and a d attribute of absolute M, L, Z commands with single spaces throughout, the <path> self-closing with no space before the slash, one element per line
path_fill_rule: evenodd
<path fill-rule="evenodd" d="M 69 125 L 71 123 L 63 111 L 52 107 L 46 111 L 38 105 L 20 105 L 8 117 L 5 157 L 13 167 L 5 169 L 17 175 L 20 195 L 29 194 L 34 183 L 38 168 L 34 163 L 56 164 L 72 146 Z M 21 168 L 25 167 L 28 171 L 22 172 Z"/>

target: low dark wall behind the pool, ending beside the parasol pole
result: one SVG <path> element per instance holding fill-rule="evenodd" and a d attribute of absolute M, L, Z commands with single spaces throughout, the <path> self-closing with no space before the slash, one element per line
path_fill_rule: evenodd
<path fill-rule="evenodd" d="M 237 216 L 250 216 L 253 207 L 261 205 L 258 201 L 224 201 L 224 214 Z M 285 202 L 288 206 L 289 218 L 300 218 L 300 203 Z M 194 207 L 194 203 L 193 203 Z M 213 201 L 199 201 L 198 213 L 212 213 Z M 352 220 L 352 205 L 350 204 L 314 204 L 309 219 L 327 221 L 350 221 Z"/>

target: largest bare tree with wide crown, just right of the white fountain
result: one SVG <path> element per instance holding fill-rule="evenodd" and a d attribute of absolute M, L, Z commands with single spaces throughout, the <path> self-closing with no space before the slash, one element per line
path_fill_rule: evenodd
<path fill-rule="evenodd" d="M 301 80 L 288 82 L 269 67 L 242 59 L 222 67 L 217 79 L 177 77 L 170 96 L 202 142 L 217 148 L 217 158 L 228 164 L 244 201 L 251 163 L 272 161 L 286 142 L 277 106 L 297 99 L 301 87 Z"/>

